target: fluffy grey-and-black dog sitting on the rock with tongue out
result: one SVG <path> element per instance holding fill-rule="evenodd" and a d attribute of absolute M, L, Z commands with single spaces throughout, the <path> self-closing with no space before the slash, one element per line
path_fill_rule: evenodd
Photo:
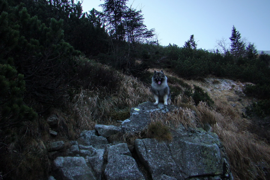
<path fill-rule="evenodd" d="M 167 84 L 167 77 L 163 73 L 163 70 L 160 72 L 154 71 L 154 76 L 152 77 L 151 91 L 154 94 L 156 100 L 155 105 L 159 102 L 164 102 L 164 105 L 170 104 L 171 93 L 170 88 Z"/>

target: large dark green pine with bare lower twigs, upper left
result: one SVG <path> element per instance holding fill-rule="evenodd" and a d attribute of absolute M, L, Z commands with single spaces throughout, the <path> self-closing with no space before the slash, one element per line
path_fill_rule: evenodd
<path fill-rule="evenodd" d="M 64 21 L 49 18 L 46 25 L 38 16 L 31 16 L 23 4 L 6 8 L 1 13 L 1 24 L 5 25 L 1 32 L 6 38 L 1 42 L 1 63 L 13 65 L 23 74 L 27 100 L 61 103 L 79 55 L 64 41 Z"/>

